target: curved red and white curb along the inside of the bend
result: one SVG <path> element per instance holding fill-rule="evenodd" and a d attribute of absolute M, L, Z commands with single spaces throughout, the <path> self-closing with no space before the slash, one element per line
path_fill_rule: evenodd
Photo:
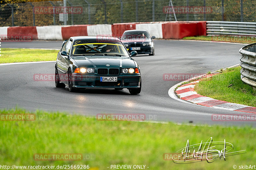
<path fill-rule="evenodd" d="M 213 75 L 215 75 L 215 74 L 202 75 L 202 78 L 211 77 Z M 187 81 L 189 81 L 189 80 L 187 80 Z M 206 106 L 206 107 L 212 107 L 212 108 L 216 108 L 216 109 L 225 109 L 225 110 L 232 110 L 232 111 L 256 114 L 256 107 L 216 100 L 211 97 L 206 97 L 206 96 L 197 94 L 194 88 L 195 88 L 196 83 L 198 83 L 198 82 L 199 81 L 192 81 L 189 84 L 184 84 L 184 85 L 181 85 L 183 83 L 183 82 L 181 82 L 181 83 L 173 86 L 171 89 L 169 89 L 168 94 L 173 99 L 176 99 L 176 100 L 179 99 L 179 101 L 181 99 L 181 100 L 183 100 L 183 102 L 188 101 L 190 103 L 194 103 L 194 104 Z M 181 85 L 181 86 L 178 87 L 179 85 Z M 178 87 L 178 88 L 176 89 L 176 87 Z M 179 98 L 175 94 L 177 96 L 179 96 Z M 186 103 L 188 103 L 188 102 L 186 102 Z"/>

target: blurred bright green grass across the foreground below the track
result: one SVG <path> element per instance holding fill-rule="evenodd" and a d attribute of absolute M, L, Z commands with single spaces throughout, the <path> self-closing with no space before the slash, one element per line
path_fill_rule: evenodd
<path fill-rule="evenodd" d="M 25 110 L 1 110 L 0 114 L 28 113 Z M 233 165 L 254 165 L 255 129 L 156 124 L 129 121 L 97 121 L 65 113 L 36 111 L 35 121 L 0 121 L 0 160 L 3 165 L 90 165 L 100 170 L 111 164 L 146 165 L 146 169 L 233 169 Z M 39 118 L 42 119 L 39 119 Z M 246 153 L 193 164 L 164 160 L 164 153 L 174 153 L 186 146 L 213 141 L 230 142 L 234 151 Z M 249 139 L 249 140 L 248 140 Z M 219 148 L 220 149 L 220 148 Z M 35 161 L 35 153 L 91 153 L 94 160 Z"/>

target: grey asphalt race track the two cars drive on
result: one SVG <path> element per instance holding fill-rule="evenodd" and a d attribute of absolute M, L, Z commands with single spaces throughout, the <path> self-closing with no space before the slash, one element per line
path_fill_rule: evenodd
<path fill-rule="evenodd" d="M 2 48 L 60 49 L 62 41 L 2 42 Z M 34 74 L 54 74 L 54 63 L 0 66 L 0 108 L 64 111 L 82 115 L 98 113 L 142 113 L 156 115 L 156 121 L 201 124 L 252 124 L 254 122 L 216 122 L 212 114 L 239 112 L 213 109 L 176 101 L 168 90 L 180 81 L 164 81 L 163 74 L 205 74 L 240 63 L 238 50 L 244 45 L 212 42 L 155 40 L 155 56 L 133 57 L 141 68 L 140 95 L 127 89 L 85 89 L 70 93 L 68 88 L 55 88 L 54 81 L 34 81 Z M 56 54 L 57 56 L 57 54 Z"/>

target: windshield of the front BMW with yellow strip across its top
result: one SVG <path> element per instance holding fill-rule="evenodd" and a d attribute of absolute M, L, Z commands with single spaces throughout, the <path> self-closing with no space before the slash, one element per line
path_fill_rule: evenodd
<path fill-rule="evenodd" d="M 128 52 L 120 41 L 84 39 L 74 42 L 71 56 L 97 55 L 97 56 L 125 56 Z"/>

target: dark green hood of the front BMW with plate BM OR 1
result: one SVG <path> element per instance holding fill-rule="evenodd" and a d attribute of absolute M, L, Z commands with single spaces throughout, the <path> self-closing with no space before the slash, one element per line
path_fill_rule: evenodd
<path fill-rule="evenodd" d="M 135 63 L 130 58 L 120 58 L 120 57 L 111 57 L 111 58 L 90 58 L 90 57 L 84 57 L 83 60 L 75 60 L 77 63 L 77 67 L 97 67 L 97 68 L 130 68 L 135 67 Z M 106 66 L 109 65 L 109 66 Z"/>

